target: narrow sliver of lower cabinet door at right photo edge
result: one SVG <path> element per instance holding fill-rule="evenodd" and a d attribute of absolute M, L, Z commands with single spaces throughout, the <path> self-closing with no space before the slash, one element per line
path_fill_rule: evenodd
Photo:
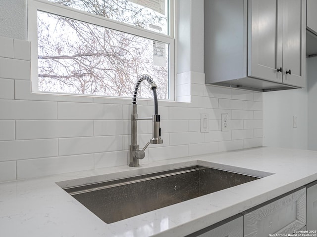
<path fill-rule="evenodd" d="M 308 231 L 317 230 L 317 184 L 307 188 L 307 220 Z"/>

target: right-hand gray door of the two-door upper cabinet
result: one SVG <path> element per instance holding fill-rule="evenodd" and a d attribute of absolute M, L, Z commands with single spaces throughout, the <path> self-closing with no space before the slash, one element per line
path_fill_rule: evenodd
<path fill-rule="evenodd" d="M 283 83 L 305 87 L 306 1 L 283 0 L 282 4 Z"/>

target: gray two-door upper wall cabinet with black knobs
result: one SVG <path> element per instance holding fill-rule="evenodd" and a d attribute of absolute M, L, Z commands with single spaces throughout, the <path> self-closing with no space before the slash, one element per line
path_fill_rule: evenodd
<path fill-rule="evenodd" d="M 205 0 L 206 83 L 305 86 L 306 0 Z"/>

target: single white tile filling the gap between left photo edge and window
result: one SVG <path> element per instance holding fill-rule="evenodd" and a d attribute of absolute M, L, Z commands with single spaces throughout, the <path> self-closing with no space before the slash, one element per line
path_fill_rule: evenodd
<path fill-rule="evenodd" d="M 0 78 L 30 80 L 30 61 L 0 58 Z"/>

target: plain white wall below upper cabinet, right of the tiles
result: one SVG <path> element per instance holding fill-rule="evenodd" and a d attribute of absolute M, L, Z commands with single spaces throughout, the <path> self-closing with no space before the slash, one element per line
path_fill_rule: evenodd
<path fill-rule="evenodd" d="M 308 149 L 307 88 L 263 93 L 264 146 Z M 297 116 L 297 128 L 293 128 L 293 116 Z"/>

